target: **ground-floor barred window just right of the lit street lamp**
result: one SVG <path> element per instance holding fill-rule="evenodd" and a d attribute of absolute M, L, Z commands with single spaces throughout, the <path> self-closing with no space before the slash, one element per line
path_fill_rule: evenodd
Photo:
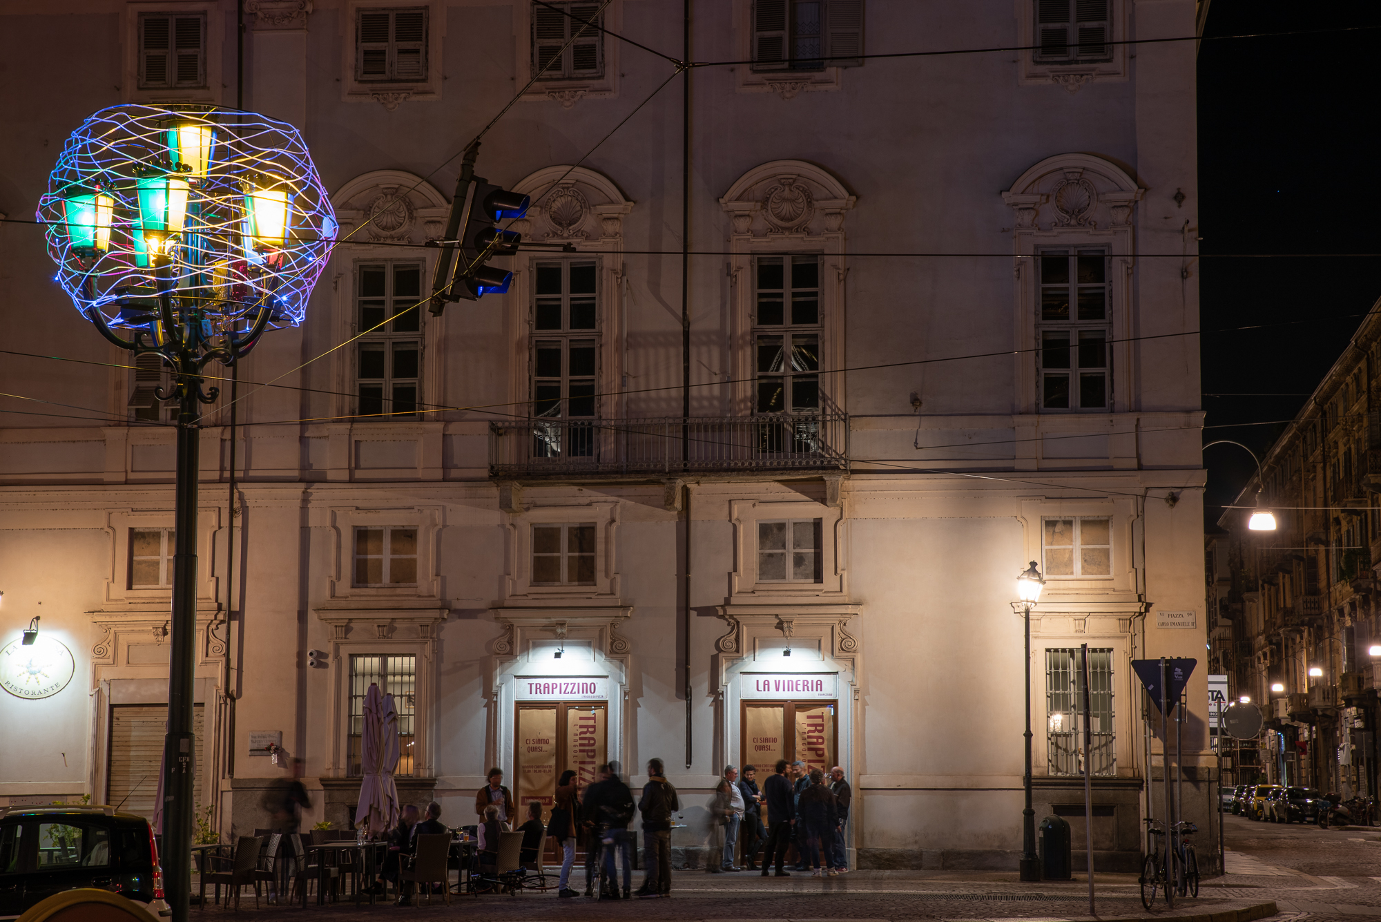
<path fill-rule="evenodd" d="M 1084 773 L 1084 685 L 1077 649 L 1045 650 L 1047 772 L 1051 776 Z M 1114 777 L 1113 651 L 1088 650 L 1088 705 L 1092 745 L 1090 774 Z"/>

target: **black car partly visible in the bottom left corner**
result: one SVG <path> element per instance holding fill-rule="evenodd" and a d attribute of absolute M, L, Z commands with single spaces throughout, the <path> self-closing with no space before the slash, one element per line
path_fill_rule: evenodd
<path fill-rule="evenodd" d="M 170 915 L 149 821 L 102 806 L 0 807 L 0 919 L 76 887 Z"/>

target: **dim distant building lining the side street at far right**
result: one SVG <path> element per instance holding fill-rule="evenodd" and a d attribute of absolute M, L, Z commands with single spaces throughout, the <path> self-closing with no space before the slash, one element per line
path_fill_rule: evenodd
<path fill-rule="evenodd" d="M 1378 370 L 1373 309 L 1261 457 L 1264 480 L 1254 476 L 1218 519 L 1228 533 L 1208 541 L 1218 625 L 1210 657 L 1230 674 L 1232 696 L 1247 696 L 1266 718 L 1257 744 L 1240 749 L 1239 783 L 1375 795 Z M 1276 531 L 1247 529 L 1258 490 Z"/>

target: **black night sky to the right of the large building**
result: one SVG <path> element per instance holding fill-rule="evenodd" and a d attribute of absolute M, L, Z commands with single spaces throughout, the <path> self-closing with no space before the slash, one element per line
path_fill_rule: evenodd
<path fill-rule="evenodd" d="M 1305 17 L 1305 11 L 1326 15 Z M 1381 4 L 1213 0 L 1207 36 L 1381 26 Z M 1375 119 L 1381 29 L 1204 41 L 1199 52 L 1201 328 L 1280 324 L 1203 337 L 1206 425 L 1290 420 L 1381 297 L 1381 259 L 1229 259 L 1211 254 L 1381 253 Z M 1291 396 L 1215 396 L 1215 395 Z M 1211 428 L 1265 450 L 1283 425 Z M 1255 467 L 1206 453 L 1204 518 Z"/>

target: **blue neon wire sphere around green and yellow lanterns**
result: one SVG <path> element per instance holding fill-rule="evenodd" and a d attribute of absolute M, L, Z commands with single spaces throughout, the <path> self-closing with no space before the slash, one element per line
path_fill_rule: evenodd
<path fill-rule="evenodd" d="M 301 323 L 338 226 L 297 128 L 220 106 L 90 116 L 64 145 L 37 218 L 83 315 L 142 327 L 171 293 L 221 334 L 264 309 L 269 328 Z"/>

